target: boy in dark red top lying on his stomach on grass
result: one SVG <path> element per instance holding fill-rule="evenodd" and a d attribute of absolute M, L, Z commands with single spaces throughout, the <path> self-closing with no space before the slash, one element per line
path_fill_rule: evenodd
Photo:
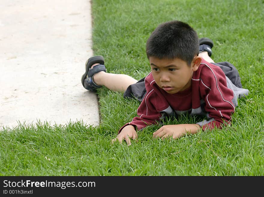
<path fill-rule="evenodd" d="M 162 122 L 166 115 L 177 117 L 190 113 L 204 115 L 207 120 L 196 124 L 164 125 L 153 133 L 154 138 L 172 136 L 175 139 L 201 129 L 211 130 L 230 124 L 237 98 L 248 95 L 248 90 L 241 88 L 239 74 L 232 64 L 214 63 L 210 58 L 212 47 L 210 39 L 198 39 L 196 31 L 188 24 L 170 21 L 159 25 L 147 40 L 151 73 L 144 81 L 106 73 L 102 56 L 89 58 L 82 76 L 82 85 L 86 89 L 95 91 L 105 85 L 114 91 L 125 91 L 124 97 L 142 101 L 137 109 L 138 116 L 121 127 L 112 142 L 125 140 L 131 145 L 130 139 L 137 138 L 138 130 Z"/>

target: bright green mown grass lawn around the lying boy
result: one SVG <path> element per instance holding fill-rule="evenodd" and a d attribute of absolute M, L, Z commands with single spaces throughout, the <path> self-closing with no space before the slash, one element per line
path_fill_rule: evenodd
<path fill-rule="evenodd" d="M 162 22 L 182 20 L 214 41 L 215 62 L 238 68 L 250 94 L 239 100 L 232 126 L 180 139 L 138 132 L 131 146 L 110 143 L 136 115 L 138 101 L 98 90 L 100 125 L 78 122 L 1 128 L 0 175 L 264 175 L 264 1 L 92 1 L 93 50 L 107 72 L 141 79 L 149 73 L 146 40 Z M 167 124 L 196 123 L 188 115 Z M 84 120 L 85 121 L 85 120 Z"/>

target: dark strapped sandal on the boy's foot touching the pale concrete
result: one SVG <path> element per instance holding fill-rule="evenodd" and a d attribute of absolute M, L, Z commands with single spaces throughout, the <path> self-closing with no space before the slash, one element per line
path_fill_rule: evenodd
<path fill-rule="evenodd" d="M 98 64 L 91 68 L 91 66 L 96 63 Z M 89 91 L 96 91 L 97 88 L 102 87 L 93 81 L 93 76 L 95 73 L 101 71 L 106 72 L 104 58 L 102 56 L 94 56 L 89 58 L 85 63 L 85 73 L 82 75 L 82 86 Z"/>

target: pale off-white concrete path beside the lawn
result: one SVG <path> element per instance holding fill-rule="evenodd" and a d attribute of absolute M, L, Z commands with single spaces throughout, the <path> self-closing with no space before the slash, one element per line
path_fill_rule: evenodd
<path fill-rule="evenodd" d="M 97 96 L 82 87 L 91 50 L 88 0 L 1 0 L 0 127 L 98 125 Z"/>

